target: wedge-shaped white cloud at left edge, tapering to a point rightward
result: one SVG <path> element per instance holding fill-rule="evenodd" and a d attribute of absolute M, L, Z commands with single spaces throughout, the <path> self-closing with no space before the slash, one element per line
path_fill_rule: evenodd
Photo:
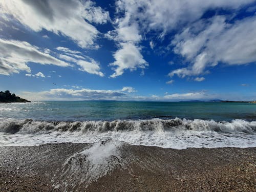
<path fill-rule="evenodd" d="M 50 54 L 41 52 L 38 47 L 26 41 L 0 39 L 0 74 L 10 75 L 19 71 L 31 72 L 28 62 L 41 65 L 71 66 Z"/>

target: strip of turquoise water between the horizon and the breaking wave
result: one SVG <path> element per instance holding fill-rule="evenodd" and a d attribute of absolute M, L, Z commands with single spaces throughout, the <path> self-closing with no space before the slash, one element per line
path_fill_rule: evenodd
<path fill-rule="evenodd" d="M 256 104 L 221 102 L 46 101 L 0 104 L 2 118 L 35 120 L 114 120 L 187 118 L 256 120 Z"/>

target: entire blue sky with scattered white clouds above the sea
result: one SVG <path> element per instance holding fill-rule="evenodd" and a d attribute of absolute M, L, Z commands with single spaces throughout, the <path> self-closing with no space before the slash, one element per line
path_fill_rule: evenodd
<path fill-rule="evenodd" d="M 2 0 L 0 91 L 256 100 L 256 1 Z"/>

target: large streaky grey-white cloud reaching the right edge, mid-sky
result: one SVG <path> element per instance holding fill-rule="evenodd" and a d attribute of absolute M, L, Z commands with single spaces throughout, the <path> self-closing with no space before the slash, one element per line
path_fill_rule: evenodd
<path fill-rule="evenodd" d="M 182 78 L 204 74 L 207 73 L 206 68 L 219 62 L 243 65 L 256 61 L 256 16 L 233 24 L 223 16 L 216 16 L 203 24 L 205 27 L 199 32 L 195 31 L 196 23 L 175 36 L 172 41 L 175 53 L 193 64 L 170 72 L 170 77 L 175 74 Z"/>

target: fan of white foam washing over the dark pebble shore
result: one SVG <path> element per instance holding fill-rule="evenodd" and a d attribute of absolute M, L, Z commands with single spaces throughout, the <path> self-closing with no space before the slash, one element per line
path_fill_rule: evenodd
<path fill-rule="evenodd" d="M 92 181 L 111 174 L 114 167 L 122 163 L 119 153 L 121 145 L 121 142 L 113 140 L 98 142 L 92 144 L 84 151 L 72 155 L 62 165 L 61 175 L 64 180 L 58 180 L 53 186 L 63 185 L 69 179 L 70 182 L 68 183 L 72 183 L 73 176 L 77 177 L 81 173 L 83 173 L 83 177 L 79 178 L 80 184 L 88 186 Z"/>

